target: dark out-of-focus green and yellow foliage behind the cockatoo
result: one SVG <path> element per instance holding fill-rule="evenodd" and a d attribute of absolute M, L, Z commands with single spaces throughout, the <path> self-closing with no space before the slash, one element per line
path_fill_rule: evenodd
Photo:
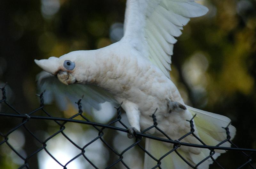
<path fill-rule="evenodd" d="M 187 104 L 228 116 L 237 129 L 234 142 L 256 149 L 256 1 L 200 3 L 209 12 L 184 27 L 174 46 L 172 79 Z M 35 77 L 41 70 L 34 59 L 108 46 L 110 27 L 123 22 L 124 10 L 125 0 L 1 1 L 0 86 L 8 82 L 13 105 L 22 112 L 38 105 L 35 94 L 41 91 L 36 91 Z M 18 123 L 0 119 L 0 132 Z M 38 123 L 47 131 L 47 123 Z M 24 137 L 29 154 L 35 143 Z M 3 151 L 0 147 L 0 168 L 16 166 Z M 218 159 L 234 168 L 242 160 L 236 155 Z M 31 168 L 38 168 L 37 157 L 33 159 Z"/>

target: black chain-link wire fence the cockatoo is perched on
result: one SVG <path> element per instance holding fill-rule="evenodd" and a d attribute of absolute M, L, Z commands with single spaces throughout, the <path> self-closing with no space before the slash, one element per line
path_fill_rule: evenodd
<path fill-rule="evenodd" d="M 118 153 L 110 144 L 108 144 L 104 139 L 104 130 L 105 129 L 111 129 L 111 130 L 118 130 L 118 131 L 122 131 L 122 132 L 126 132 L 129 133 L 127 126 L 122 122 L 122 117 L 121 117 L 121 104 L 116 107 L 117 109 L 117 117 L 116 119 L 114 119 L 113 121 L 111 121 L 108 124 L 102 124 L 102 123 L 96 123 L 96 122 L 91 122 L 86 116 L 83 115 L 83 110 L 82 110 L 82 104 L 81 104 L 81 99 L 79 99 L 76 104 L 78 106 L 78 113 L 75 114 L 74 116 L 71 116 L 70 118 L 60 118 L 60 117 L 53 117 L 50 115 L 50 113 L 48 113 L 45 109 L 44 109 L 44 92 L 42 92 L 39 96 L 40 98 L 40 107 L 27 113 L 27 114 L 21 114 L 18 110 L 16 110 L 14 107 L 12 107 L 12 105 L 10 105 L 6 99 L 6 91 L 5 91 L 5 87 L 0 87 L 0 89 L 2 90 L 2 100 L 0 100 L 0 104 L 5 104 L 7 107 L 11 108 L 15 114 L 11 114 L 11 113 L 0 113 L 0 116 L 5 116 L 5 117 L 12 117 L 12 118 L 21 118 L 22 121 L 20 124 L 18 124 L 17 126 L 13 127 L 11 130 L 9 130 L 8 132 L 6 132 L 5 134 L 0 132 L 0 138 L 3 137 L 4 140 L 0 142 L 0 146 L 3 144 L 6 144 L 7 146 L 10 147 L 10 149 L 16 153 L 23 161 L 24 164 L 21 165 L 19 168 L 27 168 L 29 169 L 29 162 L 31 157 L 35 156 L 38 152 L 45 150 L 45 152 L 47 154 L 49 154 L 49 156 L 55 160 L 60 166 L 62 166 L 64 169 L 67 168 L 67 165 L 72 162 L 73 160 L 75 160 L 76 158 L 79 157 L 83 157 L 84 160 L 88 161 L 90 163 L 90 165 L 92 165 L 92 167 L 98 169 L 97 165 L 98 164 L 94 164 L 86 155 L 85 155 L 85 151 L 86 148 L 94 143 L 96 140 L 100 140 L 108 149 L 109 151 L 111 151 L 113 154 L 116 155 L 117 159 L 115 159 L 111 164 L 109 164 L 106 168 L 111 168 L 113 166 L 115 166 L 116 164 L 118 164 L 119 162 L 121 162 L 126 168 L 130 168 L 125 162 L 124 162 L 124 153 L 127 152 L 128 150 L 130 150 L 131 148 L 137 146 L 139 147 L 142 151 L 144 151 L 145 153 L 148 154 L 148 156 L 150 158 L 152 158 L 153 160 L 156 161 L 156 166 L 154 166 L 153 168 L 160 168 L 161 169 L 161 160 L 166 157 L 167 155 L 169 155 L 170 153 L 176 153 L 183 161 L 184 163 L 187 163 L 191 168 L 197 168 L 200 164 L 202 164 L 205 160 L 211 158 L 213 160 L 213 162 L 219 166 L 219 168 L 224 169 L 224 167 L 217 162 L 212 156 L 215 154 L 215 150 L 226 150 L 226 151 L 238 151 L 241 152 L 241 154 L 246 158 L 246 160 L 244 161 L 243 164 L 241 164 L 240 166 L 237 166 L 237 168 L 242 168 L 244 166 L 250 167 L 255 169 L 255 167 L 252 165 L 252 154 L 256 152 L 256 149 L 246 149 L 246 148 L 239 148 L 238 146 L 236 146 L 231 140 L 230 140 L 230 133 L 229 133 L 229 124 L 226 127 L 223 127 L 223 130 L 226 130 L 226 134 L 227 134 L 227 139 L 221 141 L 219 144 L 217 144 L 216 146 L 209 146 L 206 145 L 199 137 L 197 137 L 194 134 L 194 123 L 193 123 L 193 118 L 196 116 L 193 116 L 192 119 L 187 120 L 190 123 L 190 132 L 185 134 L 184 136 L 180 137 L 177 140 L 172 140 L 168 135 L 166 135 L 164 133 L 164 131 L 162 131 L 161 129 L 159 129 L 157 127 L 157 119 L 155 116 L 155 112 L 152 114 L 152 121 L 153 121 L 153 125 L 150 126 L 148 129 L 145 129 L 143 131 L 141 131 L 140 133 L 136 132 L 134 133 L 134 137 L 136 138 L 135 143 L 133 143 L 132 145 L 128 146 L 127 148 L 125 148 L 121 153 Z M 42 110 L 46 116 L 34 116 L 33 114 L 39 110 Z M 75 117 L 80 116 L 82 117 L 84 120 L 77 120 L 74 119 Z M 28 127 L 26 126 L 26 123 L 29 122 L 29 120 L 31 119 L 40 119 L 40 120 L 50 120 L 50 121 L 54 121 L 57 125 L 60 126 L 60 129 L 55 132 L 54 134 L 52 134 L 51 136 L 49 136 L 48 138 L 46 138 L 45 140 L 41 140 L 38 137 L 36 137 L 36 135 L 31 132 Z M 77 145 L 74 141 L 72 141 L 71 138 L 69 138 L 66 134 L 65 134 L 65 124 L 66 123 L 81 123 L 81 124 L 85 124 L 85 125 L 91 125 L 92 127 L 94 127 L 96 130 L 98 130 L 98 136 L 95 137 L 94 139 L 92 139 L 89 143 L 85 144 L 83 147 L 80 147 L 79 145 Z M 113 126 L 114 123 L 120 123 L 124 128 L 120 128 L 120 127 L 116 127 Z M 23 127 L 25 130 L 28 131 L 28 133 L 31 135 L 32 138 L 35 138 L 40 144 L 42 144 L 41 147 L 37 148 L 36 151 L 32 152 L 31 154 L 29 154 L 27 157 L 23 157 L 17 150 L 15 150 L 15 148 L 8 142 L 9 138 L 8 136 L 14 132 L 15 130 L 19 129 L 20 127 Z M 166 138 L 162 138 L 162 137 L 156 137 L 156 136 L 151 136 L 146 134 L 146 131 L 155 128 L 156 130 L 158 130 L 159 132 L 161 132 L 163 134 L 163 136 L 165 136 Z M 69 161 L 66 162 L 66 164 L 61 164 L 51 153 L 50 151 L 48 151 L 47 149 L 47 142 L 49 140 L 51 140 L 53 137 L 57 136 L 59 133 L 61 133 L 71 144 L 73 144 L 77 149 L 79 149 L 81 152 L 78 153 L 74 158 L 70 159 Z M 195 137 L 199 142 L 201 142 L 201 144 L 191 144 L 191 143 L 185 143 L 185 142 L 181 142 L 181 140 L 189 135 L 192 135 L 193 137 Z M 154 139 L 154 140 L 158 140 L 158 141 L 162 141 L 162 142 L 166 142 L 166 143 L 170 143 L 173 144 L 173 149 L 168 151 L 166 154 L 164 154 L 161 158 L 155 158 L 152 154 L 150 154 L 142 145 L 140 145 L 143 137 L 145 138 L 149 138 L 149 139 Z M 128 138 L 127 138 L 128 139 Z M 233 147 L 223 147 L 221 146 L 221 144 L 229 142 L 231 145 L 233 145 Z M 210 150 L 210 154 L 209 156 L 207 156 L 206 158 L 202 159 L 202 161 L 200 161 L 198 164 L 196 164 L 195 166 L 190 164 L 189 161 L 187 161 L 177 150 L 178 148 L 180 148 L 181 146 L 189 146 L 189 147 L 197 147 L 197 148 L 205 148 L 205 149 L 209 149 Z M 245 153 L 247 152 L 247 153 Z M 255 162 L 255 161 L 254 161 Z"/>

